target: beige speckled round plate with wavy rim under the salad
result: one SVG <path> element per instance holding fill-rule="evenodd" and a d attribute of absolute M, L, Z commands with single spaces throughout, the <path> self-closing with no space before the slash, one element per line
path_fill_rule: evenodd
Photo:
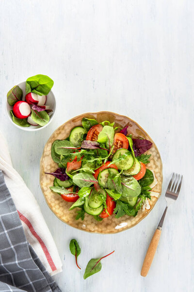
<path fill-rule="evenodd" d="M 70 134 L 72 128 L 76 126 L 81 126 L 81 119 L 83 117 L 94 118 L 98 122 L 102 122 L 105 120 L 115 122 L 115 126 L 120 126 L 124 128 L 126 125 L 129 125 L 128 134 L 132 133 L 133 137 L 145 138 L 150 140 L 153 143 L 153 146 L 147 154 L 152 154 L 150 163 L 147 164 L 147 168 L 154 171 L 155 174 L 155 182 L 156 185 L 153 184 L 152 188 L 152 200 L 146 200 L 142 209 L 138 212 L 136 217 L 129 217 L 127 215 L 115 219 L 114 216 L 103 219 L 101 222 L 96 221 L 92 216 L 85 214 L 85 218 L 82 221 L 81 219 L 75 220 L 77 210 L 74 209 L 72 211 L 68 211 L 72 203 L 64 201 L 58 194 L 53 193 L 49 186 L 53 185 L 54 177 L 45 172 L 51 172 L 57 168 L 57 164 L 52 160 L 50 155 L 50 149 L 53 141 L 56 139 L 64 140 Z M 126 116 L 119 115 L 117 113 L 109 112 L 109 111 L 100 111 L 100 112 L 88 112 L 81 114 L 69 121 L 65 124 L 57 128 L 54 133 L 49 138 L 49 141 L 45 145 L 43 155 L 40 161 L 40 185 L 45 196 L 45 199 L 49 205 L 49 208 L 52 212 L 65 223 L 79 228 L 84 231 L 94 232 L 94 233 L 117 233 L 128 228 L 133 227 L 137 223 L 139 223 L 142 219 L 144 219 L 147 214 L 152 210 L 158 198 L 160 197 L 162 191 L 162 161 L 160 153 L 152 141 L 152 139 L 147 135 L 143 128 L 141 128 L 136 122 L 132 121 Z"/>

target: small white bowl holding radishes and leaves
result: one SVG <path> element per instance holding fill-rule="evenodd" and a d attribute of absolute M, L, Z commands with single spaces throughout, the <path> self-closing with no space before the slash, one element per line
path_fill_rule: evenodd
<path fill-rule="evenodd" d="M 25 100 L 25 96 L 26 96 L 26 81 L 24 82 L 21 82 L 19 84 L 17 84 L 21 90 L 23 91 L 23 97 L 22 97 L 22 100 Z M 55 109 L 56 109 L 56 101 L 55 101 L 55 96 L 53 94 L 52 91 L 49 92 L 49 94 L 47 94 L 47 102 L 46 102 L 46 105 L 47 106 L 50 106 L 50 109 L 53 110 L 52 112 L 49 112 L 49 123 L 47 123 L 45 126 L 30 126 L 30 127 L 21 127 L 21 126 L 18 126 L 16 125 L 13 120 L 12 120 L 12 117 L 11 117 L 11 114 L 10 114 L 10 110 L 13 110 L 13 107 L 11 107 L 8 102 L 6 102 L 6 112 L 7 112 L 7 115 L 8 115 L 8 118 L 9 120 L 11 121 L 12 124 L 14 124 L 14 126 L 16 126 L 17 128 L 20 128 L 24 131 L 38 131 L 38 130 L 41 130 L 43 128 L 46 128 L 50 123 L 51 121 L 53 120 L 53 117 L 54 117 L 54 114 L 55 114 Z"/>

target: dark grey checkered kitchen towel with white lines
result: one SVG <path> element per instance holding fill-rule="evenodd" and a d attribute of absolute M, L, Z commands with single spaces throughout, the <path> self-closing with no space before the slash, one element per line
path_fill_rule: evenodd
<path fill-rule="evenodd" d="M 28 244 L 0 170 L 0 292 L 61 292 Z"/>

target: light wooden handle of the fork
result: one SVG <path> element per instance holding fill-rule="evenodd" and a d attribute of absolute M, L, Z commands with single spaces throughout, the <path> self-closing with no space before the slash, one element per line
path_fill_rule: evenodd
<path fill-rule="evenodd" d="M 143 277 L 146 277 L 146 275 L 149 271 L 149 268 L 151 266 L 151 263 L 153 261 L 153 258 L 154 258 L 154 255 L 156 253 L 156 249 L 157 249 L 157 246 L 159 243 L 159 239 L 161 237 L 161 231 L 162 231 L 162 228 L 156 229 L 156 231 L 152 237 L 152 240 L 149 244 L 149 247 L 147 249 L 147 253 L 146 253 L 144 263 L 142 265 L 142 270 L 141 270 L 141 275 Z"/>

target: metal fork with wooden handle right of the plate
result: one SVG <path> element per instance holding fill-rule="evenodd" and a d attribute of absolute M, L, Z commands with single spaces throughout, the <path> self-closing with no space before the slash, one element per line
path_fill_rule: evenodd
<path fill-rule="evenodd" d="M 173 173 L 172 178 L 170 180 L 170 183 L 168 184 L 168 187 L 167 187 L 167 190 L 165 193 L 166 208 L 163 212 L 160 223 L 158 224 L 158 227 L 157 227 L 157 229 L 152 237 L 152 240 L 149 244 L 149 247 L 147 249 L 147 253 L 146 253 L 146 256 L 144 259 L 144 263 L 142 265 L 141 275 L 143 277 L 146 277 L 146 275 L 149 271 L 149 268 L 151 266 L 151 263 L 153 261 L 154 255 L 156 253 L 167 208 L 169 207 L 169 205 L 173 201 L 177 200 L 178 194 L 180 192 L 181 183 L 182 183 L 182 175 Z"/>

